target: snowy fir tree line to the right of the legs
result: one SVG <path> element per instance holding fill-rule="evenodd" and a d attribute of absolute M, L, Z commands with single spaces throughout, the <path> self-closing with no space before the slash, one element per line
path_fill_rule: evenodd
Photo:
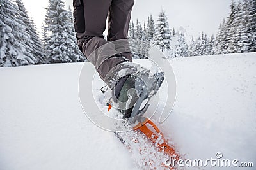
<path fill-rule="evenodd" d="M 166 52 L 168 57 L 188 57 L 221 53 L 256 52 L 256 1 L 232 1 L 230 13 L 220 24 L 218 34 L 207 36 L 204 32 L 198 37 L 186 40 L 185 33 L 169 27 L 168 19 L 162 10 L 154 24 L 152 15 L 144 27 L 137 20 L 131 22 L 129 38 L 134 59 L 147 56 L 150 45 Z M 146 47 L 146 48 L 145 48 Z"/>

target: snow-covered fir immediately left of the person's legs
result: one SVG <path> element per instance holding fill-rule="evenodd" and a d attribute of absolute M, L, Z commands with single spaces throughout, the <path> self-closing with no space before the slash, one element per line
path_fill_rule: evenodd
<path fill-rule="evenodd" d="M 61 0 L 49 0 L 45 18 L 45 53 L 48 62 L 79 62 L 83 61 L 76 44 L 72 14 L 64 9 Z"/>

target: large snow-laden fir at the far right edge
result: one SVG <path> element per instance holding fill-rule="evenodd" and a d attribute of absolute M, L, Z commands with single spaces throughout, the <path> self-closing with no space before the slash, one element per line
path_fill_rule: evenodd
<path fill-rule="evenodd" d="M 219 53 L 256 52 L 256 1 L 232 1 L 220 25 L 213 50 Z"/>

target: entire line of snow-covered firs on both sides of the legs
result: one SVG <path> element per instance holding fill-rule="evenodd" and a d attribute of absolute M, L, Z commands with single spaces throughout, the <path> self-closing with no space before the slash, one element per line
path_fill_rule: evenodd
<path fill-rule="evenodd" d="M 70 8 L 65 10 L 61 0 L 49 0 L 45 9 L 40 38 L 22 0 L 0 1 L 0 67 L 86 60 L 76 43 Z M 133 58 L 147 58 L 150 45 L 167 57 L 256 52 L 256 1 L 232 1 L 216 37 L 202 32 L 200 37 L 187 41 L 185 33 L 170 29 L 163 10 L 156 23 L 152 15 L 143 25 L 139 20 L 132 21 L 129 41 Z"/>

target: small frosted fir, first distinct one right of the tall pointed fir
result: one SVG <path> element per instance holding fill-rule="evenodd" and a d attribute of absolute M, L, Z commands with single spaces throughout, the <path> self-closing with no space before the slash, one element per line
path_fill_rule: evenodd
<path fill-rule="evenodd" d="M 175 57 L 187 57 L 188 56 L 188 44 L 183 33 L 179 34 L 178 45 L 176 46 Z"/>

